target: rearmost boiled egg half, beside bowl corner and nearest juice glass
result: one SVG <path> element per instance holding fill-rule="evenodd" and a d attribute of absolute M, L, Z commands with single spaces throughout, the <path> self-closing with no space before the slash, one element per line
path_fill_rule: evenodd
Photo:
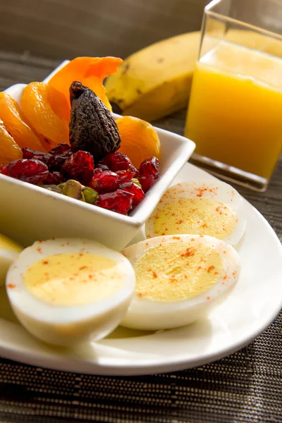
<path fill-rule="evenodd" d="M 233 246 L 246 228 L 243 197 L 221 181 L 195 180 L 168 188 L 145 225 L 147 238 L 209 235 Z"/>

